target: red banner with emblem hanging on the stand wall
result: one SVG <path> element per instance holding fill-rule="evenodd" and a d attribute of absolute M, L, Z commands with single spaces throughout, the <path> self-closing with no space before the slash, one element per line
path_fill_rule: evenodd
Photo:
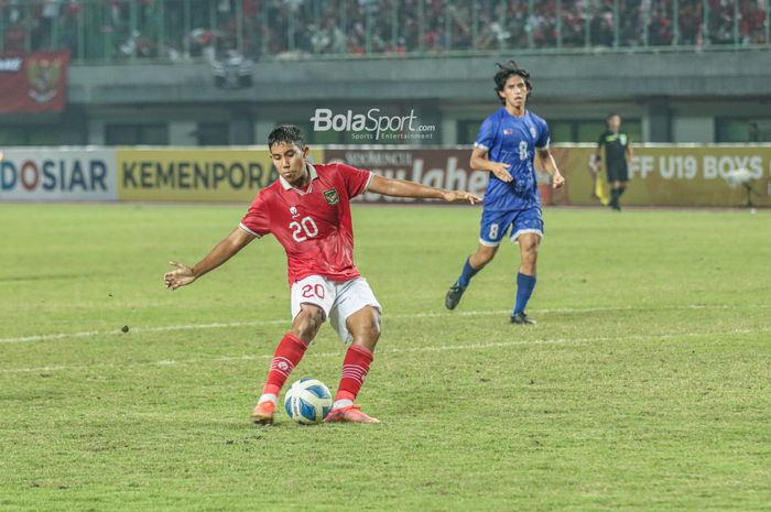
<path fill-rule="evenodd" d="M 61 112 L 68 52 L 0 54 L 0 113 Z"/>

